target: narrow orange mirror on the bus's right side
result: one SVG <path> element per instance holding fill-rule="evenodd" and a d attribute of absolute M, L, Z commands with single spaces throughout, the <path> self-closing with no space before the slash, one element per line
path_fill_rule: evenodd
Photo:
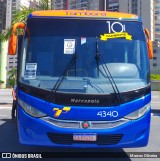
<path fill-rule="evenodd" d="M 145 34 L 147 36 L 147 47 L 148 47 L 148 57 L 149 59 L 153 58 L 153 46 L 152 46 L 152 41 L 150 40 L 150 34 L 147 29 L 144 29 Z"/>

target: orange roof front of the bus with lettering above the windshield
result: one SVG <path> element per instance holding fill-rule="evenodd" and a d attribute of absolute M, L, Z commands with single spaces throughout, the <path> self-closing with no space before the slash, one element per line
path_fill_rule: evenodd
<path fill-rule="evenodd" d="M 108 11 L 93 11 L 93 10 L 44 10 L 34 11 L 28 18 L 35 17 L 66 17 L 66 18 L 108 18 L 119 20 L 140 21 L 137 15 L 122 13 L 122 12 L 108 12 Z"/>

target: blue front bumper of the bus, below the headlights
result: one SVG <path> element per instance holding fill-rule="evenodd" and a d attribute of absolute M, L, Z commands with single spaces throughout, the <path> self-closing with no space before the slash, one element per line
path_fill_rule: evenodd
<path fill-rule="evenodd" d="M 74 129 L 54 126 L 26 114 L 18 107 L 21 144 L 70 148 L 129 148 L 148 144 L 150 110 L 141 118 L 107 129 Z M 73 134 L 96 134 L 97 141 L 73 141 Z"/>

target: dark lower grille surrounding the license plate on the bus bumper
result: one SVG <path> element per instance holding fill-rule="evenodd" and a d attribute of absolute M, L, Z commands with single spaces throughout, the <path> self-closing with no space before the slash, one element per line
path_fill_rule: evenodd
<path fill-rule="evenodd" d="M 117 144 L 122 139 L 122 134 L 97 135 L 97 141 L 74 141 L 73 134 L 47 133 L 49 139 L 55 144 Z"/>

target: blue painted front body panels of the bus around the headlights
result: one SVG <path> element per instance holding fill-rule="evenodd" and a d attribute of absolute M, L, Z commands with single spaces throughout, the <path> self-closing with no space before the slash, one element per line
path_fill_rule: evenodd
<path fill-rule="evenodd" d="M 46 102 L 44 100 L 29 96 L 22 91 L 18 92 L 18 97 L 25 103 L 39 109 L 46 113 L 48 116 L 55 118 L 54 108 L 62 109 L 65 106 L 56 105 Z M 72 106 L 70 111 L 62 112 L 58 117 L 60 120 L 86 120 L 86 121 L 100 121 L 100 120 L 118 120 L 126 116 L 127 114 L 143 107 L 150 102 L 151 95 L 134 100 L 132 102 L 122 104 L 117 107 L 81 107 Z M 97 115 L 98 111 L 118 111 L 117 117 L 100 117 Z M 98 147 L 142 147 L 146 146 L 149 138 L 149 125 L 150 125 L 150 112 L 148 112 L 141 118 L 128 121 L 120 126 L 108 129 L 73 129 L 62 128 L 51 125 L 40 118 L 34 118 L 24 112 L 24 110 L 18 105 L 18 130 L 19 140 L 22 144 L 29 145 L 41 145 L 41 146 L 57 146 L 57 147 L 77 147 L 77 148 L 98 148 Z M 117 144 L 97 145 L 86 143 L 74 143 L 74 144 L 56 144 L 48 137 L 48 133 L 57 134 L 71 134 L 73 133 L 96 133 L 97 135 L 113 135 L 122 134 L 121 140 Z"/>

